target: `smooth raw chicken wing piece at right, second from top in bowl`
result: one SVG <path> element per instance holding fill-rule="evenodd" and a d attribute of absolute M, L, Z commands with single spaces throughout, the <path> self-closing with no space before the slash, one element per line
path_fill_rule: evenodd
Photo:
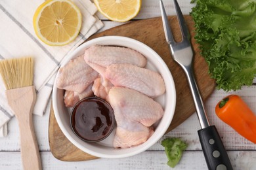
<path fill-rule="evenodd" d="M 114 86 L 137 90 L 149 97 L 165 92 L 165 83 L 159 73 L 131 64 L 112 64 L 106 67 L 104 77 Z"/>

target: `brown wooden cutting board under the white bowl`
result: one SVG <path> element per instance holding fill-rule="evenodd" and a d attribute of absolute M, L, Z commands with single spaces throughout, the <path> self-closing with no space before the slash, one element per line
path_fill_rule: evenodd
<path fill-rule="evenodd" d="M 215 89 L 215 80 L 209 77 L 207 63 L 202 56 L 200 56 L 198 44 L 196 44 L 193 39 L 194 22 L 192 18 L 190 16 L 184 16 L 184 19 L 188 25 L 188 29 L 190 29 L 190 34 L 192 37 L 192 44 L 195 52 L 194 71 L 196 80 L 198 82 L 198 88 L 200 89 L 203 101 L 205 101 Z M 171 24 L 171 29 L 175 39 L 177 41 L 181 41 L 179 24 L 176 17 L 169 16 L 169 23 Z M 112 29 L 108 29 L 101 33 L 97 33 L 90 37 L 87 41 L 95 39 L 96 37 L 107 35 L 131 37 L 133 39 L 137 39 L 138 41 L 144 42 L 144 44 L 147 44 L 153 50 L 155 50 L 169 67 L 177 90 L 177 105 L 173 120 L 167 132 L 179 126 L 179 124 L 184 122 L 184 120 L 195 112 L 196 109 L 194 107 L 192 95 L 190 94 L 186 76 L 184 75 L 181 67 L 179 67 L 179 65 L 177 65 L 177 63 L 175 63 L 175 61 L 173 61 L 171 58 L 167 42 L 165 41 L 161 18 L 150 18 L 147 20 L 129 22 L 124 25 L 113 27 Z M 96 159 L 95 156 L 91 156 L 79 150 L 72 143 L 70 143 L 70 141 L 68 141 L 60 130 L 60 127 L 58 127 L 53 109 L 51 110 L 49 118 L 49 144 L 53 156 L 58 160 L 83 161 Z"/>

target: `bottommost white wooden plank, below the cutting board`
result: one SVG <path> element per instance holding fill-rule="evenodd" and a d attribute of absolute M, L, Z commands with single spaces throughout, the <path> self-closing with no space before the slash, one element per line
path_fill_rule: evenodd
<path fill-rule="evenodd" d="M 228 151 L 228 156 L 232 162 L 234 170 L 255 170 L 256 151 Z M 43 169 L 66 170 L 66 169 L 110 169 L 110 170 L 172 170 L 167 165 L 167 158 L 164 151 L 147 151 L 136 156 L 122 159 L 97 159 L 91 161 L 59 161 L 56 160 L 51 152 L 41 152 Z M 4 170 L 20 169 L 19 152 L 0 152 L 0 167 Z M 192 160 L 192 161 L 190 161 Z M 184 151 L 177 169 L 205 170 L 205 163 L 202 151 Z"/>

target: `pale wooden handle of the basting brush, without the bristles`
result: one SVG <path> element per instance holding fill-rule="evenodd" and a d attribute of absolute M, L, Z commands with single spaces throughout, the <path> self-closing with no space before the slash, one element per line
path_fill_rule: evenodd
<path fill-rule="evenodd" d="M 35 105 L 35 87 L 28 86 L 6 91 L 8 103 L 18 120 L 20 127 L 20 151 L 24 169 L 41 169 L 41 160 L 35 131 L 32 111 Z"/>

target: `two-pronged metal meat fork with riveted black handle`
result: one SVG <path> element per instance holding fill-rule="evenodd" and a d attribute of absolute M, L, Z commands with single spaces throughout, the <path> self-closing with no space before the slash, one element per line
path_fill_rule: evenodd
<path fill-rule="evenodd" d="M 177 0 L 173 1 L 175 5 L 175 10 L 177 12 L 177 19 L 179 21 L 179 26 L 181 29 L 182 41 L 175 42 L 175 40 L 173 39 L 173 35 L 171 33 L 171 29 L 168 23 L 168 18 L 163 7 L 163 2 L 160 0 L 163 30 L 165 33 L 166 41 L 169 44 L 171 56 L 173 56 L 173 59 L 182 67 L 186 74 L 186 78 L 188 79 L 190 91 L 192 93 L 194 104 L 196 106 L 196 112 L 198 114 L 200 125 L 202 127 L 202 129 L 198 131 L 198 135 L 200 138 L 200 143 L 202 145 L 202 150 L 208 169 L 232 169 L 232 165 L 221 141 L 221 137 L 219 136 L 216 127 L 210 126 L 207 119 L 207 115 L 203 107 L 203 100 L 198 90 L 196 80 L 194 78 L 194 71 L 192 65 L 194 52 L 190 44 L 190 33 L 188 32 L 188 28 L 186 27 L 186 24 L 184 22 L 184 18 Z"/>

